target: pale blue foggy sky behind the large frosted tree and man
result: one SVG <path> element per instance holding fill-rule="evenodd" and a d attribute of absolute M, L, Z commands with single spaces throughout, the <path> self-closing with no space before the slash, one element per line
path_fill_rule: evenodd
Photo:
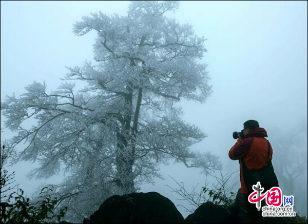
<path fill-rule="evenodd" d="M 68 73 L 65 66 L 82 66 L 85 60 L 93 60 L 92 45 L 97 33 L 75 36 L 72 24 L 90 12 L 126 15 L 128 5 L 129 1 L 1 1 L 1 101 L 13 92 L 16 97 L 24 93 L 24 87 L 34 80 L 45 80 L 48 92 L 55 90 L 61 84 L 60 78 Z M 207 38 L 208 52 L 202 61 L 208 64 L 214 92 L 204 104 L 180 104 L 185 112 L 183 119 L 208 134 L 193 149 L 220 155 L 224 174 L 239 169 L 238 162 L 229 159 L 228 151 L 235 144 L 232 133 L 240 131 L 244 121 L 259 121 L 270 141 L 275 135 L 295 131 L 307 123 L 306 1 L 181 1 L 179 10 L 168 16 L 181 24 L 192 24 L 196 35 Z M 1 127 L 3 122 L 1 115 Z M 11 136 L 5 131 L 1 140 Z M 275 168 L 277 158 L 272 145 Z M 307 151 L 306 142 L 303 150 Z M 20 162 L 9 167 L 29 196 L 41 183 L 25 177 L 33 166 Z M 142 191 L 157 191 L 175 205 L 188 203 L 177 200 L 181 197 L 170 192 L 166 185 L 177 185 L 168 175 L 183 181 L 187 190 L 199 184 L 200 191 L 205 182 L 199 170 L 174 165 L 172 161 L 161 168 L 161 173 L 165 180 L 157 179 L 155 186 L 144 185 Z M 306 175 L 302 181 L 305 189 Z M 56 184 L 61 180 L 60 175 L 45 182 Z M 239 181 L 239 172 L 230 181 Z M 238 188 L 239 184 L 235 191 Z M 302 200 L 307 203 L 306 195 Z M 306 208 L 305 205 L 301 212 L 307 213 Z M 178 209 L 184 217 L 188 215 L 181 207 Z"/>

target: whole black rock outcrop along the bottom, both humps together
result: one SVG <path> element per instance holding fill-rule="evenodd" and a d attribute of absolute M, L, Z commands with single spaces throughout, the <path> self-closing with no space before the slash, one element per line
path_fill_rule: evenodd
<path fill-rule="evenodd" d="M 295 217 L 263 217 L 262 223 L 296 223 L 295 220 Z M 172 201 L 157 192 L 148 192 L 111 196 L 84 223 L 249 223 L 249 219 L 240 190 L 233 206 L 223 207 L 208 201 L 185 220 Z"/>

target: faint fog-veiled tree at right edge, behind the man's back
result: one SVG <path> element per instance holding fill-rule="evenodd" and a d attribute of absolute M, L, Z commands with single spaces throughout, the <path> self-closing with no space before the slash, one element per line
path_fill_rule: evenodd
<path fill-rule="evenodd" d="M 272 139 L 275 153 L 275 173 L 284 195 L 294 195 L 294 209 L 307 213 L 307 120 L 282 133 L 277 130 Z"/>

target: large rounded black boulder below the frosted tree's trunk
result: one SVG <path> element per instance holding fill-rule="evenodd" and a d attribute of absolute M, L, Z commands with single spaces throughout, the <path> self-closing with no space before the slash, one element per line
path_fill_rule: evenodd
<path fill-rule="evenodd" d="M 174 203 L 157 192 L 113 195 L 90 216 L 90 223 L 183 223 Z"/>

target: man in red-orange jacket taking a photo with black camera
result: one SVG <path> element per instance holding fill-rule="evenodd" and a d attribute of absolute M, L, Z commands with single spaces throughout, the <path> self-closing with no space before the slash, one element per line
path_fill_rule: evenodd
<path fill-rule="evenodd" d="M 239 160 L 241 193 L 244 194 L 246 211 L 252 223 L 261 223 L 262 219 L 261 211 L 257 210 L 255 203 L 248 201 L 249 194 L 253 192 L 252 186 L 260 181 L 264 188 L 262 193 L 278 187 L 272 166 L 273 149 L 265 137 L 267 133 L 259 127 L 258 121 L 247 120 L 240 133 L 234 132 L 234 138 L 238 140 L 229 151 L 230 159 Z"/>

